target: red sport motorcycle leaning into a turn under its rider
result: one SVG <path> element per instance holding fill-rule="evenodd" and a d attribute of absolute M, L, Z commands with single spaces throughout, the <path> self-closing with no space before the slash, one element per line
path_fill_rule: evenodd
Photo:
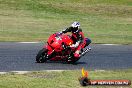
<path fill-rule="evenodd" d="M 88 38 L 84 39 L 82 49 L 85 48 Z M 40 50 L 36 56 L 37 63 L 44 63 L 47 60 L 50 61 L 66 61 L 68 63 L 75 63 L 80 58 L 74 58 L 74 52 L 76 48 L 70 48 L 69 46 L 73 44 L 73 40 L 70 35 L 67 34 L 52 34 L 47 44 L 43 46 L 43 49 Z M 81 52 L 81 56 L 85 55 L 90 49 L 85 49 Z M 68 61 L 68 58 L 71 58 L 71 61 Z"/>

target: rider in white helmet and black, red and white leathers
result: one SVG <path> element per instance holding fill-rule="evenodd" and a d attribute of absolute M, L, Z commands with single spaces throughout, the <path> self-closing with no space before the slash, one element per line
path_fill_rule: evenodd
<path fill-rule="evenodd" d="M 70 45 L 71 48 L 76 48 L 75 52 L 74 52 L 74 57 L 75 58 L 80 58 L 80 52 L 82 51 L 82 44 L 84 41 L 84 34 L 82 32 L 82 29 L 80 28 L 80 23 L 79 22 L 73 22 L 71 24 L 70 27 L 66 28 L 65 30 L 62 30 L 61 32 L 59 32 L 59 34 L 65 34 L 67 32 L 71 32 L 72 33 L 72 40 L 73 40 L 73 44 Z M 91 43 L 90 39 L 87 39 L 86 41 L 86 45 L 88 46 Z M 70 61 L 71 58 L 69 58 Z"/>

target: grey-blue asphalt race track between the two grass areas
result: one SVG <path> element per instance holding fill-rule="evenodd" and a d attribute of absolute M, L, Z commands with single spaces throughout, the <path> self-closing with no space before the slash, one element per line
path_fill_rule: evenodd
<path fill-rule="evenodd" d="M 35 63 L 35 56 L 43 43 L 0 42 L 0 72 L 129 69 L 132 68 L 132 45 L 90 45 L 92 51 L 76 64 L 63 62 Z"/>

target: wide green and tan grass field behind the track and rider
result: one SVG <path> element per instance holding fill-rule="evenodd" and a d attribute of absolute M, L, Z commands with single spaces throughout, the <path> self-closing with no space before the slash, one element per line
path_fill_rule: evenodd
<path fill-rule="evenodd" d="M 73 21 L 93 43 L 132 44 L 131 0 L 0 0 L 0 41 L 46 41 Z"/>

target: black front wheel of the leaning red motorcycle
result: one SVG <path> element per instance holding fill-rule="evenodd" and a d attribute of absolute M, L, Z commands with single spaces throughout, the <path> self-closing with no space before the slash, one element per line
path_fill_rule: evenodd
<path fill-rule="evenodd" d="M 43 48 L 40 50 L 36 56 L 37 63 L 44 63 L 47 61 L 47 49 Z"/>

